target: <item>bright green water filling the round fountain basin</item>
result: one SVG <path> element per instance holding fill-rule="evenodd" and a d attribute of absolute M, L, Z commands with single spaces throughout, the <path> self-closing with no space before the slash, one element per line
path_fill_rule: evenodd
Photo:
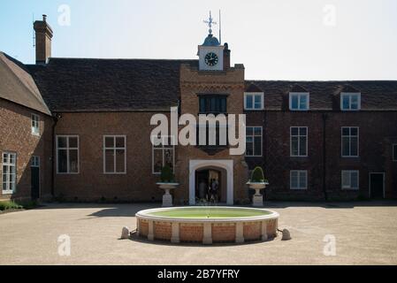
<path fill-rule="evenodd" d="M 168 218 L 248 218 L 255 216 L 262 216 L 270 214 L 269 211 L 261 210 L 221 210 L 221 209 L 176 209 L 176 210 L 164 210 L 157 212 L 150 212 L 149 215 L 168 217 Z"/>

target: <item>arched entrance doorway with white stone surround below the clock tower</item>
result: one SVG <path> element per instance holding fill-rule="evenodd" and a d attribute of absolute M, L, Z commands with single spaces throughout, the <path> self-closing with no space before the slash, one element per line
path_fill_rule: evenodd
<path fill-rule="evenodd" d="M 190 160 L 189 163 L 189 204 L 195 205 L 200 198 L 199 183 L 218 180 L 220 203 L 233 205 L 233 160 Z"/>

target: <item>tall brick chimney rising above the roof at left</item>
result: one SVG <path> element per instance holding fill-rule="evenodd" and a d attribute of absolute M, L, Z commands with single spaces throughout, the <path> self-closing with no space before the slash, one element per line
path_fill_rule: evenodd
<path fill-rule="evenodd" d="M 47 15 L 42 15 L 42 20 L 34 21 L 36 38 L 36 64 L 46 64 L 51 57 L 52 28 L 47 23 Z"/>

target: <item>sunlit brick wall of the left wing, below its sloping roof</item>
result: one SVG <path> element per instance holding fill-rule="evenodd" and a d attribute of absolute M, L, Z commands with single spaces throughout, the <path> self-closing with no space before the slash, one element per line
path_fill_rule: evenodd
<path fill-rule="evenodd" d="M 40 135 L 32 134 L 32 113 L 40 117 Z M 40 157 L 40 197 L 41 199 L 51 197 L 51 132 L 52 118 L 48 115 L 0 98 L 0 154 L 11 152 L 17 156 L 15 193 L 4 195 L 3 189 L 0 189 L 0 201 L 30 199 L 32 156 Z M 3 185 L 3 165 L 0 166 L 0 180 Z"/>

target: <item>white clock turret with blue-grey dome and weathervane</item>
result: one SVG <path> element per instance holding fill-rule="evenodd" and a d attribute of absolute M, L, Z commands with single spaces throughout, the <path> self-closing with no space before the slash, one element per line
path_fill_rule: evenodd
<path fill-rule="evenodd" d="M 200 71 L 224 71 L 224 50 L 225 46 L 221 45 L 218 38 L 212 34 L 212 25 L 217 23 L 213 21 L 210 13 L 210 19 L 204 21 L 210 27 L 209 34 L 202 45 L 198 47 L 199 69 Z"/>

